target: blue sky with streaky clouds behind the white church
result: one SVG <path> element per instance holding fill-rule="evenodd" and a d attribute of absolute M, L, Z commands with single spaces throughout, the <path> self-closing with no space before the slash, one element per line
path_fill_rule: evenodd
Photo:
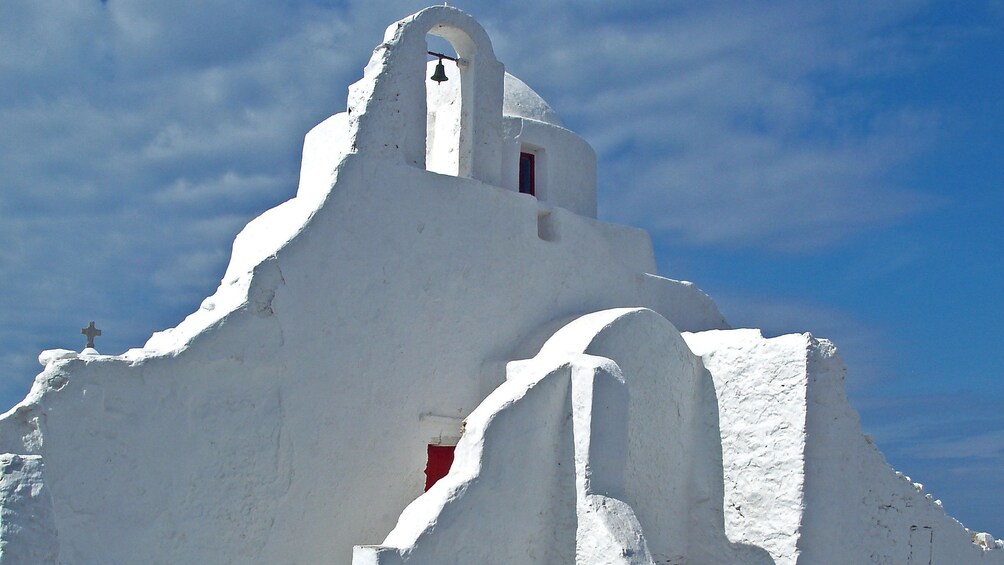
<path fill-rule="evenodd" d="M 0 403 L 212 294 L 413 1 L 0 3 Z M 851 402 L 1004 537 L 1004 2 L 457 2 L 595 148 L 600 217 L 734 326 L 833 339 Z"/>

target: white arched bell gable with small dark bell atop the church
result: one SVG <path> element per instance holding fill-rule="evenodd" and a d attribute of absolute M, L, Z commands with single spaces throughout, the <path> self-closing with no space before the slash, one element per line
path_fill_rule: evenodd
<path fill-rule="evenodd" d="M 501 186 L 505 69 L 484 28 L 466 13 L 434 6 L 390 27 L 349 87 L 353 151 L 426 168 L 426 35 L 440 36 L 461 59 L 461 177 Z"/>

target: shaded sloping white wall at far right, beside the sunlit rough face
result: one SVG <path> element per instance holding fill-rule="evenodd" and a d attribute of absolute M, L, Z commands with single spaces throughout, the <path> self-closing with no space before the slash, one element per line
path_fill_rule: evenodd
<path fill-rule="evenodd" d="M 1004 564 L 940 501 L 898 474 L 860 431 L 835 347 L 809 339 L 805 504 L 800 564 Z"/>

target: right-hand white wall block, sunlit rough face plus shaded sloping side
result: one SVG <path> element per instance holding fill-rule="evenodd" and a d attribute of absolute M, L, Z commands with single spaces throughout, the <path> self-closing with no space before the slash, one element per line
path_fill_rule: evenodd
<path fill-rule="evenodd" d="M 778 564 L 1004 563 L 861 434 L 828 341 L 758 330 L 685 338 L 718 392 L 730 539 Z"/>

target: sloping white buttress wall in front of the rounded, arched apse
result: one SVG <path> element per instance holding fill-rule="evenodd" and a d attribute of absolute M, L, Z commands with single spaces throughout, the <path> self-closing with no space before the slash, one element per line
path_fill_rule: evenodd
<path fill-rule="evenodd" d="M 633 510 L 615 498 L 623 388 L 608 359 L 511 363 L 468 416 L 450 474 L 405 510 L 384 545 L 356 547 L 353 565 L 654 563 Z"/>

